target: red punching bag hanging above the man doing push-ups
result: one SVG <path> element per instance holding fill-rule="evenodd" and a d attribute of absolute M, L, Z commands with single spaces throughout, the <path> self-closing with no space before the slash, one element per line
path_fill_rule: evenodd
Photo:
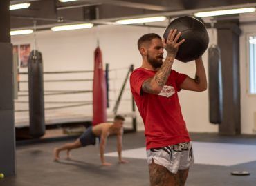
<path fill-rule="evenodd" d="M 93 125 L 107 121 L 107 87 L 100 48 L 94 52 Z"/>

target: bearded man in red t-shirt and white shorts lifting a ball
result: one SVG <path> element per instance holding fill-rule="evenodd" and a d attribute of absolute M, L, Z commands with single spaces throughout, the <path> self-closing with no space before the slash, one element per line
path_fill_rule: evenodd
<path fill-rule="evenodd" d="M 192 143 L 181 113 L 177 92 L 201 92 L 207 81 L 201 57 L 195 60 L 194 79 L 172 70 L 181 32 L 170 30 L 167 38 L 145 34 L 138 40 L 143 64 L 130 76 L 131 92 L 145 125 L 147 163 L 152 186 L 185 185 L 194 163 Z M 167 56 L 163 62 L 163 49 Z"/>

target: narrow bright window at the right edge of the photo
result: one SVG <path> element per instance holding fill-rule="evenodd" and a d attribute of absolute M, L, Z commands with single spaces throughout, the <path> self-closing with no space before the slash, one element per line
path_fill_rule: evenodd
<path fill-rule="evenodd" d="M 249 37 L 250 94 L 256 94 L 256 36 Z"/>

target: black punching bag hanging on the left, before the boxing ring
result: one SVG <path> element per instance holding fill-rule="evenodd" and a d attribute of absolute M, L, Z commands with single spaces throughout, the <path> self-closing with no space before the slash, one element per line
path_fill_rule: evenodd
<path fill-rule="evenodd" d="M 30 52 L 28 59 L 28 92 L 30 135 L 39 138 L 45 134 L 44 121 L 44 79 L 42 54 L 37 50 Z"/>

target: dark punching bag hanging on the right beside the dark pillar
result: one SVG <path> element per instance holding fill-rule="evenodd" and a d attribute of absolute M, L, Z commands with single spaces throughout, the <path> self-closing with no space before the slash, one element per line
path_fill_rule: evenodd
<path fill-rule="evenodd" d="M 208 49 L 209 116 L 210 123 L 219 124 L 223 115 L 221 52 L 217 45 Z"/>

